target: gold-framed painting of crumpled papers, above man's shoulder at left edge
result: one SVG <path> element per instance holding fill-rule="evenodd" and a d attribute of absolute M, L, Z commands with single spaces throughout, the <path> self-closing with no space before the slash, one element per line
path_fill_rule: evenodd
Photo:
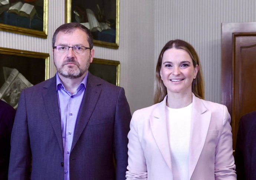
<path fill-rule="evenodd" d="M 17 107 L 23 89 L 49 79 L 47 53 L 0 47 L 0 99 Z"/>

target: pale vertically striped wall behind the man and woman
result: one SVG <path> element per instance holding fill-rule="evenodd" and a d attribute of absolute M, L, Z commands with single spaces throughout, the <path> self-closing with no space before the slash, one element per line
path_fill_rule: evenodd
<path fill-rule="evenodd" d="M 158 54 L 171 39 L 190 42 L 201 59 L 206 99 L 221 101 L 221 23 L 256 21 L 255 0 L 120 0 L 119 49 L 95 46 L 95 57 L 121 63 L 132 113 L 153 103 L 154 70 Z M 65 1 L 49 0 L 48 38 L 0 31 L 0 47 L 50 53 L 51 38 L 65 23 Z"/>

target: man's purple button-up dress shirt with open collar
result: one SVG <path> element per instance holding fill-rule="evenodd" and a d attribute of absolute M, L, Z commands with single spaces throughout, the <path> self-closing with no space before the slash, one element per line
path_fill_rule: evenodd
<path fill-rule="evenodd" d="M 56 88 L 64 147 L 64 180 L 69 180 L 69 154 L 75 133 L 76 120 L 86 89 L 87 77 L 88 73 L 79 84 L 76 92 L 71 94 L 70 91 L 66 90 L 63 86 L 58 73 L 56 74 Z"/>

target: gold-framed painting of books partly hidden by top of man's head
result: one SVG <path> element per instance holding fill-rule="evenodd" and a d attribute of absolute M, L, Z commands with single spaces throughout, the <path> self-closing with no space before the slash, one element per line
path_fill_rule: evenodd
<path fill-rule="evenodd" d="M 70 22 L 88 27 L 95 46 L 118 49 L 119 0 L 66 0 L 66 23 Z"/>

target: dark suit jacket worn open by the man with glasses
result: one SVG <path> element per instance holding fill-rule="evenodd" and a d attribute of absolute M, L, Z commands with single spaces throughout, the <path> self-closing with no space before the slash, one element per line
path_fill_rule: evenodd
<path fill-rule="evenodd" d="M 70 151 L 70 180 L 125 179 L 130 120 L 124 89 L 89 73 Z M 63 153 L 55 76 L 20 95 L 9 180 L 63 180 Z"/>

